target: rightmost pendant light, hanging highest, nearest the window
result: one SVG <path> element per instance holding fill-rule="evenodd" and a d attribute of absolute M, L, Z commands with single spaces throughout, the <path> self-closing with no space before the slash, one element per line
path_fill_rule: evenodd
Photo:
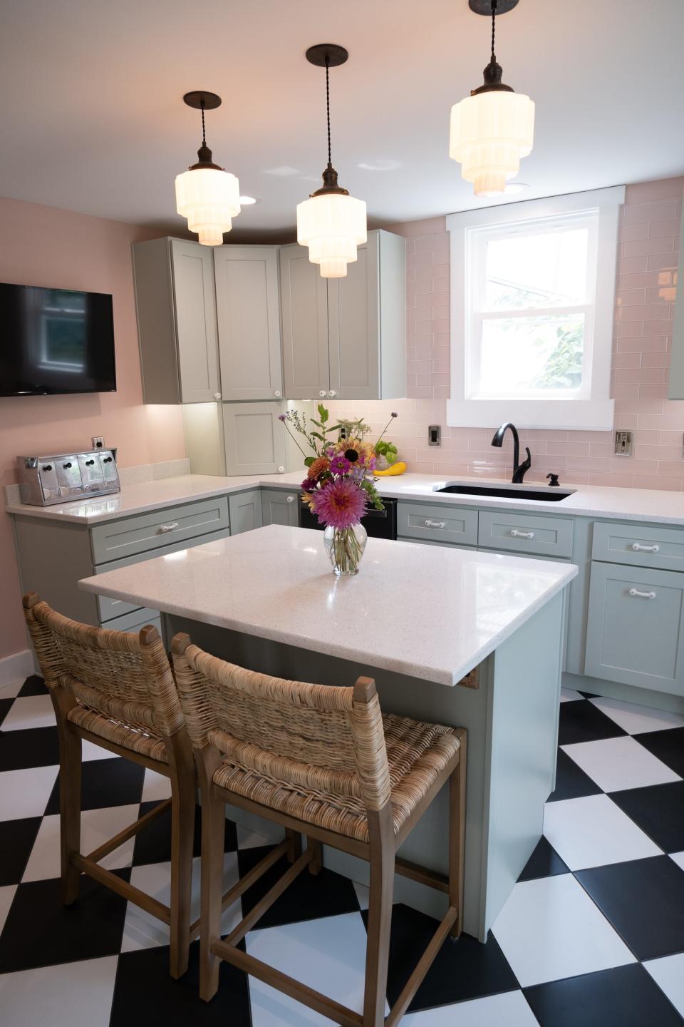
<path fill-rule="evenodd" d="M 491 15 L 491 59 L 484 83 L 451 108 L 449 156 L 461 163 L 460 174 L 475 186 L 476 196 L 496 196 L 520 170 L 520 158 L 532 151 L 534 103 L 501 82 L 494 53 L 496 14 L 518 0 L 470 0 L 476 14 Z"/>

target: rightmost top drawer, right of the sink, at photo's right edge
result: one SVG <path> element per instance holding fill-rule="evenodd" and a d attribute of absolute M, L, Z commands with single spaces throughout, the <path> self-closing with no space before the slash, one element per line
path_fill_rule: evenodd
<path fill-rule="evenodd" d="M 684 530 L 641 525 L 594 525 L 592 559 L 616 564 L 684 570 Z"/>

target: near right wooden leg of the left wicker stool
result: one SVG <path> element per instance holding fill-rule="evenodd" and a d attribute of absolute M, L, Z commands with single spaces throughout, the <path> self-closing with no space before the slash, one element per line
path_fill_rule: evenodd
<path fill-rule="evenodd" d="M 171 758 L 171 949 L 170 974 L 188 969 L 195 834 L 195 765 L 187 738 Z"/>

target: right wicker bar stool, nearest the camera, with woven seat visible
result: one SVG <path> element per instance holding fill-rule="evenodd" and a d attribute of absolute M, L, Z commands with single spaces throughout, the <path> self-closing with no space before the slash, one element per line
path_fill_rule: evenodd
<path fill-rule="evenodd" d="M 224 959 L 345 1027 L 393 1027 L 443 942 L 460 934 L 466 730 L 383 716 L 368 678 L 339 688 L 267 677 L 203 652 L 187 635 L 175 636 L 171 656 L 202 795 L 201 997 L 208 1001 L 215 994 Z M 447 782 L 449 874 L 444 877 L 398 860 L 396 851 Z M 222 903 L 226 803 L 281 824 L 288 835 Z M 370 863 L 362 1016 L 238 947 L 305 868 L 320 872 L 323 842 Z M 222 905 L 242 895 L 283 854 L 291 866 L 222 940 Z M 386 1021 L 395 872 L 445 891 L 448 910 Z"/>

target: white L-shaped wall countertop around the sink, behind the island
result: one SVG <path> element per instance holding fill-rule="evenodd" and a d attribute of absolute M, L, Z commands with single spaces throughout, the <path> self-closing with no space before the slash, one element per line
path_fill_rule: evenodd
<path fill-rule="evenodd" d="M 237 478 L 217 478 L 210 474 L 183 474 L 157 481 L 122 486 L 121 492 L 102 499 L 55 504 L 54 506 L 29 506 L 19 502 L 8 503 L 8 514 L 44 518 L 51 521 L 76 524 L 98 524 L 133 514 L 160 509 L 175 503 L 207 499 L 216 495 L 244 492 L 263 485 L 272 489 L 295 489 L 304 478 L 301 470 L 286 474 L 251 474 Z M 458 495 L 436 490 L 450 483 L 464 485 L 508 485 L 502 480 L 482 478 L 435 478 L 431 474 L 401 474 L 377 480 L 380 495 L 420 502 L 439 502 L 456 506 L 480 506 L 520 512 L 549 514 L 556 517 L 591 517 L 611 520 L 643 521 L 653 524 L 684 525 L 684 493 L 654 489 L 619 489 L 604 486 L 573 486 L 563 484 L 563 490 L 572 494 L 560 502 L 534 499 L 496 498 L 492 496 Z M 549 486 L 532 485 L 530 488 L 547 491 Z"/>

